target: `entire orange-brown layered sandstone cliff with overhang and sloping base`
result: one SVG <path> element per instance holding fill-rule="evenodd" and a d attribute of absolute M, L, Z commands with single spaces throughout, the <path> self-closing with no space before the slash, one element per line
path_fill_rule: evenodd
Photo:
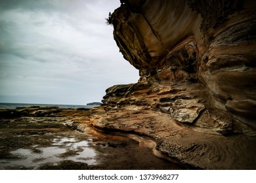
<path fill-rule="evenodd" d="M 156 156 L 194 167 L 255 169 L 255 10 L 249 0 L 121 1 L 108 22 L 140 78 L 108 88 L 91 124 L 150 137 Z"/>

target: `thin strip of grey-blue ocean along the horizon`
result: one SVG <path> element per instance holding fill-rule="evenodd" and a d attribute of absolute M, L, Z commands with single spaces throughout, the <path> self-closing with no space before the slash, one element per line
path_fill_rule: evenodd
<path fill-rule="evenodd" d="M 98 105 L 56 105 L 56 104 L 32 104 L 32 103 L 0 103 L 0 108 L 17 108 L 17 107 L 31 107 L 31 106 L 56 106 L 62 108 L 93 108 Z"/>

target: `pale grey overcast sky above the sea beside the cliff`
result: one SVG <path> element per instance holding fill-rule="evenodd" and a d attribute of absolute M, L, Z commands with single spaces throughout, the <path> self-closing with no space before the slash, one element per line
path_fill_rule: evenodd
<path fill-rule="evenodd" d="M 0 102 L 85 105 L 137 71 L 113 39 L 119 0 L 1 0 Z"/>

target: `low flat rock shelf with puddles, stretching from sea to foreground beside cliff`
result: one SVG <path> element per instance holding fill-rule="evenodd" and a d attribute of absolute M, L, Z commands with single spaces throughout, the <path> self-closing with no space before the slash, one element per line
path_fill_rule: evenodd
<path fill-rule="evenodd" d="M 191 169 L 156 158 L 129 134 L 95 129 L 88 121 L 96 111 L 0 109 L 0 169 Z"/>

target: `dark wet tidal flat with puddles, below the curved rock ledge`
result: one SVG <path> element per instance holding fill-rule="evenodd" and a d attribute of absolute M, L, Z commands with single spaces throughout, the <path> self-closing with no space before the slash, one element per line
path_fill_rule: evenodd
<path fill-rule="evenodd" d="M 6 137 L 0 141 L 0 147 L 6 147 L 0 169 L 184 169 L 160 159 L 156 142 L 148 137 L 93 132 Z"/>

